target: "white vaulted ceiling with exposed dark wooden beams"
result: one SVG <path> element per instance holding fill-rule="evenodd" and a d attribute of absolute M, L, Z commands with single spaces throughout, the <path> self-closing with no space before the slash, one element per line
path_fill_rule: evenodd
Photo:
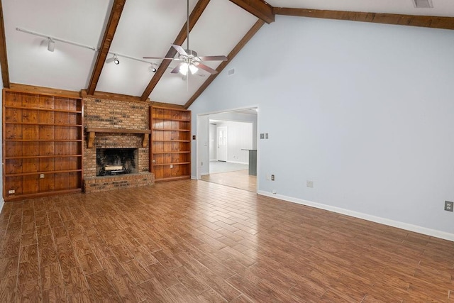
<path fill-rule="evenodd" d="M 205 62 L 221 72 L 279 14 L 454 29 L 454 1 L 432 3 L 431 9 L 417 9 L 414 0 L 189 0 L 189 48 L 200 56 L 226 55 L 226 62 Z M 26 84 L 188 107 L 216 78 L 199 70 L 184 79 L 171 73 L 175 61 L 143 59 L 174 57 L 172 44 L 187 48 L 186 0 L 3 0 L 0 5 L 4 87 Z M 53 52 L 48 38 L 55 40 Z"/>

